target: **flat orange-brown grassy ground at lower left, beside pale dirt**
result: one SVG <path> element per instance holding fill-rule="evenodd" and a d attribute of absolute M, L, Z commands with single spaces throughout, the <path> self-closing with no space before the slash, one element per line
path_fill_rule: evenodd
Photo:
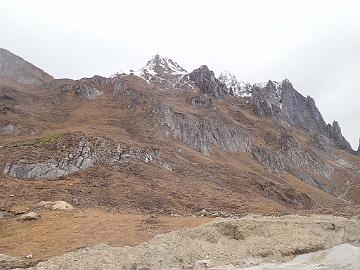
<path fill-rule="evenodd" d="M 160 233 L 191 228 L 213 219 L 119 214 L 98 209 L 40 211 L 39 220 L 0 219 L 0 254 L 46 260 L 83 247 L 106 243 L 134 246 Z"/>

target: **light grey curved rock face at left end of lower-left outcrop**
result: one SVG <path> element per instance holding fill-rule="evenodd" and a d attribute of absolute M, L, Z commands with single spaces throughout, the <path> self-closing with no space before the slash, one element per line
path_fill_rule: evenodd
<path fill-rule="evenodd" d="M 54 180 L 69 174 L 87 169 L 95 164 L 98 156 L 91 148 L 91 144 L 81 140 L 74 153 L 66 158 L 50 159 L 41 163 L 24 163 L 15 161 L 8 163 L 4 173 L 18 179 L 47 179 Z"/>

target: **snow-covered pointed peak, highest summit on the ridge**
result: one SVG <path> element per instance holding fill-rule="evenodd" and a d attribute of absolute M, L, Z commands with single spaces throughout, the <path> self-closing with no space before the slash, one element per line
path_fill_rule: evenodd
<path fill-rule="evenodd" d="M 182 68 L 178 63 L 170 58 L 163 57 L 159 54 L 154 55 L 140 70 L 141 74 L 185 74 L 187 71 Z"/>

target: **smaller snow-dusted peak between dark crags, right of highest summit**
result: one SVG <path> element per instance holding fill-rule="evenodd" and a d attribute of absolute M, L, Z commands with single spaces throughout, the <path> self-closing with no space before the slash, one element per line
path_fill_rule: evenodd
<path fill-rule="evenodd" d="M 251 96 L 251 85 L 238 81 L 236 76 L 228 71 L 221 72 L 218 80 L 226 85 L 228 92 L 237 97 Z"/>

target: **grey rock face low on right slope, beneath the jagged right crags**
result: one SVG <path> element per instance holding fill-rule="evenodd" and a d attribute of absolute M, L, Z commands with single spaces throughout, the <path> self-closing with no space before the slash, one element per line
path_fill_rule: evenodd
<path fill-rule="evenodd" d="M 254 146 L 252 154 L 273 172 L 288 172 L 304 182 L 329 191 L 316 176 L 331 177 L 331 168 L 290 134 L 282 134 L 275 150 Z"/>

